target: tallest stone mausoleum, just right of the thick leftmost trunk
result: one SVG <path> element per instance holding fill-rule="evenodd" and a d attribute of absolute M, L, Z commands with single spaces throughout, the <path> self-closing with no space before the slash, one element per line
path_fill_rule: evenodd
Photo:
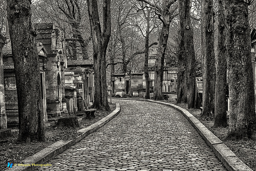
<path fill-rule="evenodd" d="M 53 23 L 34 24 L 34 27 L 37 42 L 41 42 L 48 52 L 45 70 L 47 112 L 61 115 L 62 112 L 67 112 L 64 78 L 64 69 L 67 68 L 65 37 Z"/>

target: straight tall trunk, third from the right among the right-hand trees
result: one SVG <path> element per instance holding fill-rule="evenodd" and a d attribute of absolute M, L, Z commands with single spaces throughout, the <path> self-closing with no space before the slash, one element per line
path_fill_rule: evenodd
<path fill-rule="evenodd" d="M 201 118 L 214 117 L 216 68 L 214 55 L 214 5 L 212 0 L 202 1 L 202 66 L 203 111 Z"/>

